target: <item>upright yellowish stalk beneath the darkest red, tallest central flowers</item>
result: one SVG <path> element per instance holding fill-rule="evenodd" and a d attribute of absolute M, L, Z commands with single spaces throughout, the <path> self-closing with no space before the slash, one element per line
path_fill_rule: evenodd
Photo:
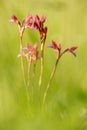
<path fill-rule="evenodd" d="M 44 43 L 41 43 L 41 70 L 40 70 L 40 77 L 39 77 L 39 91 L 42 83 L 43 68 L 44 68 Z"/>

